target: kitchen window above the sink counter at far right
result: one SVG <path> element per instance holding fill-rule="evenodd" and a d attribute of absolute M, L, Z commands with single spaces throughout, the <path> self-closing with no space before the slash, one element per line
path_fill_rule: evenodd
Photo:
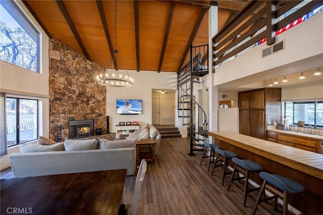
<path fill-rule="evenodd" d="M 293 124 L 304 121 L 305 125 L 323 127 L 323 101 L 285 102 L 285 118 Z"/>

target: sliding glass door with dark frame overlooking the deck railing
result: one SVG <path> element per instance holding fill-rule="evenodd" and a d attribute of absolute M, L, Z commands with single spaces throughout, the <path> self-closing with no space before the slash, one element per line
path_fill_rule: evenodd
<path fill-rule="evenodd" d="M 6 117 L 8 147 L 37 139 L 37 110 L 37 100 L 7 97 Z"/>

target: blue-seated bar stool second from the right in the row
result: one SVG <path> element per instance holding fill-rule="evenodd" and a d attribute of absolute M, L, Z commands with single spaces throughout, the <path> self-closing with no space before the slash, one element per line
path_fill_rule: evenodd
<path fill-rule="evenodd" d="M 228 191 L 230 189 L 231 183 L 233 181 L 239 180 L 240 183 L 240 179 L 246 179 L 245 181 L 245 185 L 244 185 L 244 198 L 243 198 L 243 206 L 246 206 L 246 202 L 247 202 L 247 195 L 249 192 L 253 192 L 256 190 L 260 190 L 260 187 L 256 187 L 253 189 L 248 189 L 248 184 L 249 184 L 249 173 L 251 172 L 260 172 L 262 170 L 262 167 L 257 164 L 254 163 L 253 161 L 249 161 L 249 160 L 240 160 L 238 158 L 232 158 L 231 159 L 233 163 L 235 163 L 234 169 L 233 169 L 233 173 L 230 179 L 230 183 L 228 185 Z M 239 171 L 244 174 L 244 176 L 239 175 Z M 238 174 L 237 178 L 234 178 L 235 174 Z"/>

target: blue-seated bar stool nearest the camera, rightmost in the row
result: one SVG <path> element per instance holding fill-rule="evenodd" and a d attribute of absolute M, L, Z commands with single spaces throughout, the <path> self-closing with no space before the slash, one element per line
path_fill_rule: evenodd
<path fill-rule="evenodd" d="M 280 175 L 274 175 L 274 174 L 269 174 L 266 172 L 260 172 L 259 177 L 263 179 L 263 182 L 261 185 L 261 189 L 260 189 L 260 193 L 259 193 L 259 196 L 257 199 L 257 203 L 253 209 L 252 214 L 256 213 L 257 206 L 259 203 L 261 203 L 263 201 L 271 200 L 271 199 L 275 199 L 274 210 L 277 210 L 277 200 L 278 200 L 278 196 L 280 196 L 284 202 L 283 214 L 285 215 L 285 214 L 287 214 L 287 211 L 288 211 L 288 207 L 287 207 L 288 206 L 288 195 L 287 194 L 300 193 L 305 190 L 305 188 L 301 184 L 299 184 L 289 178 L 285 178 L 283 176 L 280 176 Z M 269 186 L 267 183 L 270 183 L 270 184 L 276 186 L 277 188 L 283 190 L 283 192 Z M 275 193 L 275 195 L 261 199 L 262 193 L 264 192 L 265 188 L 270 190 L 271 192 Z M 264 197 L 265 197 L 265 194 L 264 194 Z"/>

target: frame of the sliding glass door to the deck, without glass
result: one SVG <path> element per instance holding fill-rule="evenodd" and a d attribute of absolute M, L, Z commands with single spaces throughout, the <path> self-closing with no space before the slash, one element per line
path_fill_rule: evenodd
<path fill-rule="evenodd" d="M 12 96 L 7 96 L 6 97 L 6 106 L 7 106 L 7 99 L 15 99 L 16 100 L 16 144 L 14 145 L 10 145 L 8 146 L 8 136 L 7 136 L 7 148 L 10 148 L 10 147 L 14 147 L 14 146 L 18 146 L 18 145 L 21 145 L 21 144 L 25 144 L 26 142 L 30 142 L 30 141 L 34 141 L 34 140 L 37 140 L 38 138 L 38 135 L 39 135 L 39 100 L 38 99 L 31 99 L 31 98 L 21 98 L 21 97 L 12 97 Z M 36 131 L 37 131 L 37 134 L 36 134 L 36 138 L 34 139 L 29 139 L 27 141 L 24 141 L 24 142 L 20 142 L 20 100 L 32 100 L 32 101 L 36 101 L 37 103 L 37 125 L 36 125 Z M 6 115 L 7 117 L 7 115 Z M 8 135 L 8 134 L 7 134 Z"/>

